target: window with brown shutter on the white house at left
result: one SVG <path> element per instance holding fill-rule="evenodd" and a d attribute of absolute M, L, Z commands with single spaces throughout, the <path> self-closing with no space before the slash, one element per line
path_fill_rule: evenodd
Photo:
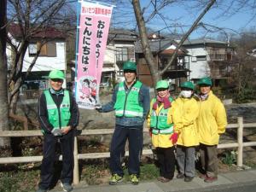
<path fill-rule="evenodd" d="M 37 54 L 38 49 L 40 48 L 41 43 L 32 43 L 28 46 L 29 56 L 34 56 Z M 43 44 L 40 50 L 39 56 L 56 56 L 56 43 L 48 42 Z"/>

